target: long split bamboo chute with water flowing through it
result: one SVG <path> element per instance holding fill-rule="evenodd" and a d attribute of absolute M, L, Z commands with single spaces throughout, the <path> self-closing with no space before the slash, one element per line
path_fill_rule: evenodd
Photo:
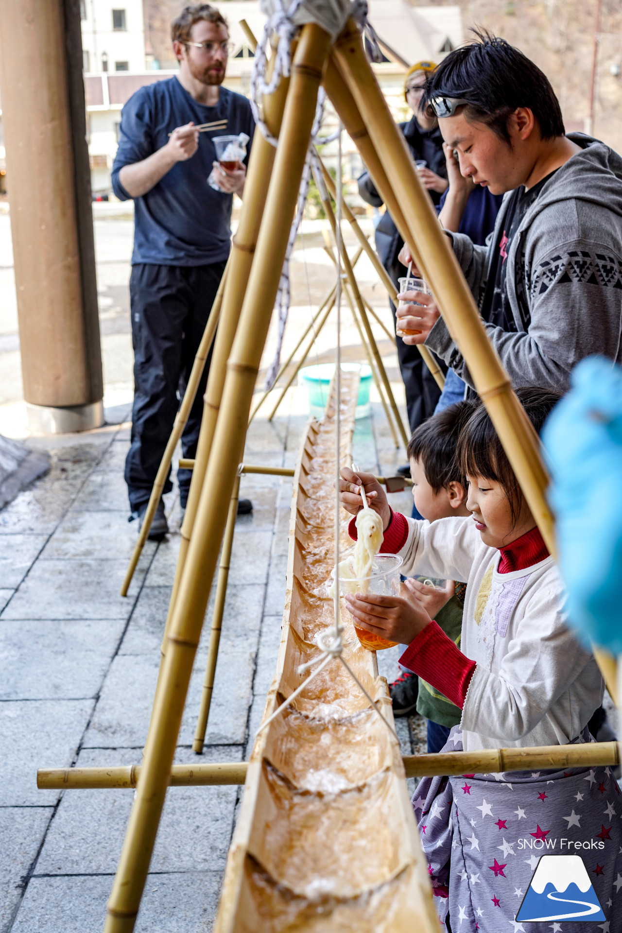
<path fill-rule="evenodd" d="M 299 665 L 321 654 L 318 639 L 333 625 L 325 581 L 335 564 L 336 412 L 343 465 L 352 461 L 358 382 L 358 374 L 342 372 L 337 398 L 333 381 L 325 418 L 310 422 L 301 441 L 268 725 L 248 763 L 214 933 L 437 929 L 399 743 L 339 660 L 271 718 L 306 680 Z M 343 513 L 341 548 L 347 524 Z M 341 613 L 344 659 L 393 727 L 376 656 L 361 647 L 343 604 Z"/>

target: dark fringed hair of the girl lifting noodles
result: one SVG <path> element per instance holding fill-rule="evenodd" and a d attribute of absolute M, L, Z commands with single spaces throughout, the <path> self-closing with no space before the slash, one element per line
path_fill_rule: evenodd
<path fill-rule="evenodd" d="M 530 387 L 517 389 L 517 396 L 536 433 L 540 434 L 546 418 L 560 401 L 561 393 L 553 389 Z M 457 458 L 464 476 L 481 476 L 485 480 L 501 483 L 510 504 L 512 520 L 518 522 L 524 503 L 523 495 L 492 425 L 491 416 L 481 402 L 463 426 Z"/>

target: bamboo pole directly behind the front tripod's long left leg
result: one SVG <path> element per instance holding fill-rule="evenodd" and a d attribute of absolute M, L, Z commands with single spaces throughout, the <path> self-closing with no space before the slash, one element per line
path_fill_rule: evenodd
<path fill-rule="evenodd" d="M 295 47 L 296 43 L 293 44 L 292 49 L 294 50 Z M 272 60 L 268 65 L 269 76 L 273 58 L 274 56 L 272 56 Z M 273 136 L 278 137 L 281 129 L 283 108 L 288 86 L 289 78 L 283 78 L 276 91 L 270 94 L 270 96 L 265 97 L 262 102 L 263 118 Z M 212 450 L 214 428 L 220 409 L 220 399 L 222 397 L 223 385 L 225 384 L 225 376 L 227 374 L 228 355 L 240 320 L 240 309 L 242 308 L 248 277 L 255 257 L 259 226 L 266 205 L 268 182 L 272 174 L 275 156 L 276 149 L 274 146 L 270 145 L 263 133 L 257 132 L 253 140 L 253 147 L 248 164 L 240 223 L 231 243 L 228 287 L 223 296 L 220 327 L 218 327 L 216 333 L 214 355 L 207 379 L 207 387 L 205 389 L 196 466 L 192 481 L 190 482 L 186 514 L 181 527 L 179 554 L 173 579 L 173 592 L 171 594 L 171 602 L 169 604 L 164 630 L 165 635 L 171 624 L 173 607 L 177 599 L 179 583 L 186 564 L 188 545 L 190 537 L 192 536 L 205 470 L 207 469 L 207 462 Z M 165 650 L 166 648 L 163 642 L 162 653 Z"/>

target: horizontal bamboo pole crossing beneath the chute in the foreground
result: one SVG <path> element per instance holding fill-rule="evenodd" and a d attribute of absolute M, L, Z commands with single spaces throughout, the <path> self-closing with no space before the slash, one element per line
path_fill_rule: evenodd
<path fill-rule="evenodd" d="M 583 745 L 541 745 L 532 748 L 492 748 L 477 752 L 438 752 L 405 755 L 406 777 L 436 777 L 445 774 L 500 774 L 515 771 L 560 770 L 593 766 L 616 767 L 620 761 L 617 742 L 587 742 Z M 222 764 L 175 764 L 170 787 L 243 784 L 247 762 Z M 40 790 L 85 790 L 136 787 L 141 765 L 113 768 L 40 768 L 36 786 Z"/>

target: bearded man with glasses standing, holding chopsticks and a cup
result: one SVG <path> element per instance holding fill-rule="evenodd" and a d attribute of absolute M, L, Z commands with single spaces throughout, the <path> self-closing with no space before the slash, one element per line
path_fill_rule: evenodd
<path fill-rule="evenodd" d="M 222 87 L 231 44 L 220 12 L 208 4 L 185 7 L 173 21 L 172 38 L 179 73 L 141 88 L 125 104 L 112 170 L 117 198 L 134 202 L 134 402 L 125 480 L 139 527 L 227 263 L 233 194 L 242 197 L 244 188 L 246 159 L 232 171 L 216 163 L 220 190 L 207 184 L 212 139 L 243 132 L 252 140 L 255 129 L 247 99 Z M 197 130 L 218 119 L 227 121 L 224 130 Z M 197 451 L 210 359 L 211 352 L 182 436 L 189 458 Z M 182 508 L 191 475 L 177 472 Z M 169 476 L 164 492 L 172 489 Z M 240 500 L 239 511 L 251 508 L 248 499 Z M 149 538 L 167 532 L 160 500 Z"/>

